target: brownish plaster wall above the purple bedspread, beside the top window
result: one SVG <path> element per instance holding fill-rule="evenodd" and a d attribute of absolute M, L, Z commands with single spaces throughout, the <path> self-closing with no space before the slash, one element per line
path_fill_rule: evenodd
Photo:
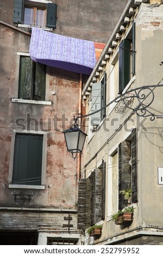
<path fill-rule="evenodd" d="M 66 36 L 106 42 L 127 0 L 53 0 L 57 4 L 57 31 Z M 6 8 L 7 7 L 7 8 Z M 13 1 L 0 3 L 1 19 L 12 24 Z"/>

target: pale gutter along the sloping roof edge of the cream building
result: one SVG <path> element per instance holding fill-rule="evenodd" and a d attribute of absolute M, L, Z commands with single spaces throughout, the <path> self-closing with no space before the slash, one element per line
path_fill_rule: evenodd
<path fill-rule="evenodd" d="M 95 71 L 98 68 L 98 66 L 100 65 L 102 59 L 104 58 L 104 56 L 105 56 L 105 54 L 106 54 L 106 52 L 107 52 L 111 42 L 114 39 L 115 33 L 119 30 L 119 27 L 121 26 L 121 23 L 122 23 L 124 17 L 126 16 L 126 12 L 127 12 L 128 8 L 130 7 L 132 2 L 134 2 L 134 1 L 133 0 L 128 0 L 127 4 L 125 6 L 125 9 L 122 11 L 121 17 L 120 17 L 118 23 L 116 24 L 116 26 L 115 26 L 115 28 L 114 28 L 114 30 L 112 32 L 112 35 L 110 36 L 110 39 L 108 40 L 105 48 L 103 49 L 103 51 L 102 51 L 102 53 L 100 55 L 100 58 L 99 58 L 99 60 L 97 61 L 96 65 L 95 65 L 95 68 L 93 69 L 92 73 L 90 74 L 90 76 L 89 76 L 89 78 L 87 80 L 86 86 L 84 86 L 84 88 L 82 90 L 82 96 L 84 95 L 84 93 L 86 93 L 87 87 L 89 86 L 90 82 L 92 82 L 92 79 L 93 79 L 93 76 L 95 74 Z"/>

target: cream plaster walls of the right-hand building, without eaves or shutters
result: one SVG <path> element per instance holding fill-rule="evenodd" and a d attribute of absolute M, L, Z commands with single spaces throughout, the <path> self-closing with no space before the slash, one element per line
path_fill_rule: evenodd
<path fill-rule="evenodd" d="M 152 84 L 157 85 L 162 80 L 162 65 L 160 65 L 163 60 L 162 10 L 163 5 L 159 4 L 149 5 L 142 3 L 140 6 L 135 19 L 136 74 L 128 89 Z M 113 58 L 110 57 L 111 59 L 107 63 L 107 76 L 110 75 L 110 63 L 112 63 L 115 54 L 114 52 Z M 162 81 L 160 83 L 162 84 Z M 112 83 L 108 82 L 107 88 L 108 86 L 112 86 Z M 100 239 L 94 240 L 95 244 L 100 244 L 104 241 L 105 243 L 116 245 L 162 244 L 162 238 L 159 235 L 162 235 L 161 209 L 163 205 L 160 198 L 163 186 L 158 185 L 158 167 L 163 166 L 162 87 L 155 88 L 153 92 L 154 101 L 149 107 L 149 111 L 161 115 L 161 118 L 155 118 L 154 121 L 151 121 L 150 117 L 142 118 L 133 113 L 127 121 L 129 114 L 132 113 L 131 109 L 126 109 L 125 113 L 118 114 L 115 113 L 115 109 L 109 112 L 109 108 L 107 108 L 106 119 L 94 132 L 93 138 L 87 144 L 85 162 L 87 164 L 87 176 L 99 166 L 102 159 L 106 161 L 106 218 L 104 222 L 100 222 L 100 224 L 103 223 L 102 235 Z M 149 91 L 143 90 L 142 93 L 147 95 Z M 150 94 L 144 103 L 148 104 L 151 99 L 152 96 Z M 107 102 L 109 102 L 109 90 L 107 90 Z M 138 103 L 138 100 L 134 99 L 131 107 L 138 106 Z M 122 127 L 121 124 L 123 124 Z M 121 128 L 119 129 L 119 127 Z M 113 168 L 110 158 L 118 149 L 120 142 L 127 139 L 131 134 L 131 130 L 135 127 L 138 131 L 138 203 L 133 204 L 134 218 L 131 225 L 115 225 L 112 216 L 108 212 L 110 212 L 110 208 L 113 214 L 118 211 L 118 163 L 117 167 Z M 113 169 L 114 173 L 112 173 Z M 112 180 L 110 181 L 111 174 Z M 110 198 L 110 190 L 114 193 L 114 195 L 111 195 L 112 198 Z M 139 229 L 140 227 L 143 227 L 142 230 Z M 144 235 L 146 231 L 150 237 Z M 152 236 L 153 234 L 155 236 Z M 139 239 L 133 238 L 136 235 L 141 237 Z"/>

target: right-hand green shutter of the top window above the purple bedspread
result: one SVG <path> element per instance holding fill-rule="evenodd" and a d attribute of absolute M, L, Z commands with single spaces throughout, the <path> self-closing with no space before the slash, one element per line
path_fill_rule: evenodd
<path fill-rule="evenodd" d="M 47 27 L 56 28 L 57 5 L 53 3 L 47 4 Z"/>

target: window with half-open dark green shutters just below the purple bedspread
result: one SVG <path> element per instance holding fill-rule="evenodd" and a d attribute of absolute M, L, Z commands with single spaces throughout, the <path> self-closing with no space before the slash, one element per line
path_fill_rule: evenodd
<path fill-rule="evenodd" d="M 18 98 L 45 100 L 46 66 L 21 56 L 19 63 Z"/>

